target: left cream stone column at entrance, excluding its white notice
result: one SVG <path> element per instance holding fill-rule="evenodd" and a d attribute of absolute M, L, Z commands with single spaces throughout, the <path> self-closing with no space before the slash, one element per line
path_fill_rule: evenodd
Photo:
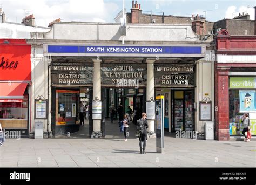
<path fill-rule="evenodd" d="M 92 100 L 98 97 L 101 100 L 101 77 L 100 77 L 100 62 L 102 60 L 92 60 L 93 61 L 93 95 Z M 92 108 L 92 107 L 91 107 Z M 91 138 L 101 138 L 102 132 L 100 130 L 101 120 L 93 120 L 92 135 Z"/>

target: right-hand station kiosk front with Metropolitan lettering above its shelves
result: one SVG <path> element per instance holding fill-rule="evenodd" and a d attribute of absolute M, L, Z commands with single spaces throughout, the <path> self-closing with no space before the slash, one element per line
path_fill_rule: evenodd
<path fill-rule="evenodd" d="M 156 64 L 156 94 L 164 96 L 164 128 L 169 132 L 195 129 L 195 64 Z"/>

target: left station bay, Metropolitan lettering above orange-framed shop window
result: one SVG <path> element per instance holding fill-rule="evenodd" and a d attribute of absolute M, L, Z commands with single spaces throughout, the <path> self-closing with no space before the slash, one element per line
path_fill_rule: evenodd
<path fill-rule="evenodd" d="M 78 60 L 67 63 L 53 57 L 51 86 L 53 135 L 79 131 L 79 107 L 89 104 L 87 88 L 92 86 L 92 65 Z"/>

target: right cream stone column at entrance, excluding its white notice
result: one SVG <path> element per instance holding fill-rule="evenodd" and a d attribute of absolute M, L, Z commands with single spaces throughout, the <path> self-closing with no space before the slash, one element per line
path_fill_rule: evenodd
<path fill-rule="evenodd" d="M 154 97 L 154 61 L 155 59 L 147 59 L 147 101 L 150 100 L 151 97 L 155 100 Z M 149 138 L 156 138 L 156 132 L 154 131 L 154 120 L 147 120 L 149 124 L 149 128 L 147 128 L 147 135 Z"/>

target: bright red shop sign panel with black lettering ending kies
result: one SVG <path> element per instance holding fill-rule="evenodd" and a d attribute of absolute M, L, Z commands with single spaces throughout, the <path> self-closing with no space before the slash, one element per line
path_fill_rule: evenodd
<path fill-rule="evenodd" d="M 0 80 L 31 80 L 31 46 L 25 40 L 0 44 Z"/>

